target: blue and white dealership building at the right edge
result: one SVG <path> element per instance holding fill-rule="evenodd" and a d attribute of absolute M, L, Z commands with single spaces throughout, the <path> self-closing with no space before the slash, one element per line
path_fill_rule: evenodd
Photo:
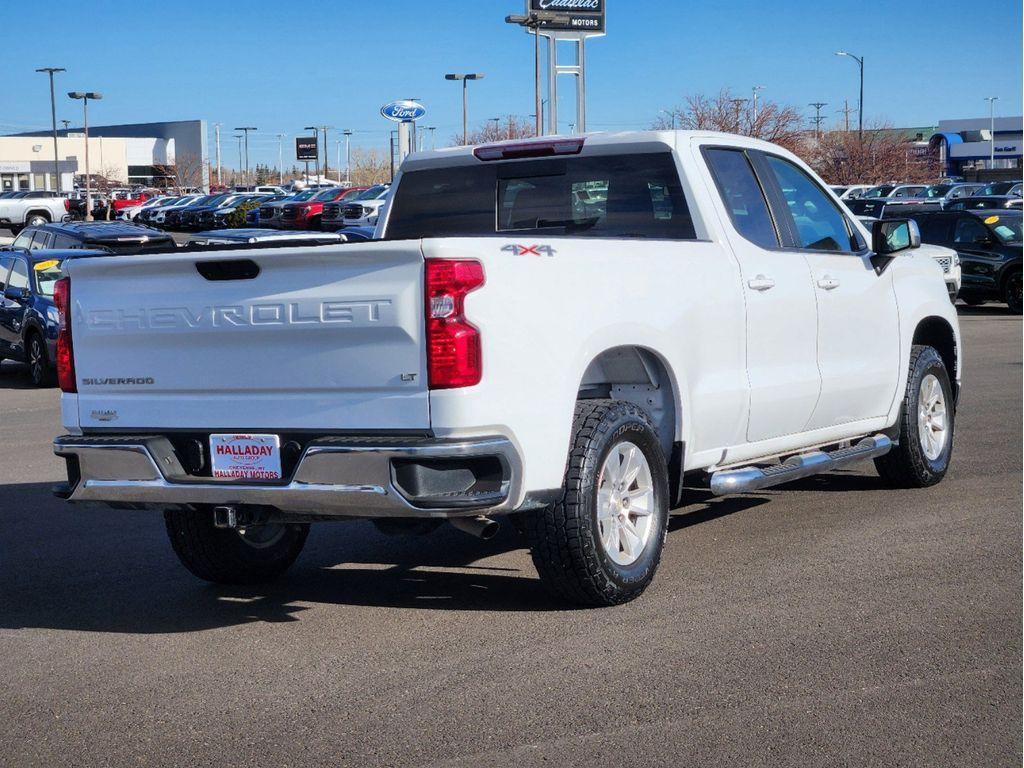
<path fill-rule="evenodd" d="M 940 120 L 928 144 L 948 176 L 1020 178 L 1022 123 L 1020 117 Z"/>

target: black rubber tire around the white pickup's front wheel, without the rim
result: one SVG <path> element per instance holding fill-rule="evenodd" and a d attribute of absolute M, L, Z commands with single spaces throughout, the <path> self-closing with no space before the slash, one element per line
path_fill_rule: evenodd
<path fill-rule="evenodd" d="M 918 407 L 921 385 L 929 375 L 938 379 L 945 402 L 946 435 L 941 452 L 931 459 L 925 453 L 918 432 Z M 949 374 L 942 357 L 934 347 L 915 345 L 910 350 L 910 371 L 907 375 L 906 394 L 900 406 L 898 442 L 885 456 L 874 460 L 882 478 L 898 488 L 923 488 L 942 480 L 949 469 L 955 433 L 955 410 Z"/>

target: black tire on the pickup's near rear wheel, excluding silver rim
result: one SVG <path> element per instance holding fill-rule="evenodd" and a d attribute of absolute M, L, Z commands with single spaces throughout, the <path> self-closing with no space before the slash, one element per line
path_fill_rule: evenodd
<path fill-rule="evenodd" d="M 625 566 L 605 552 L 597 520 L 601 468 L 623 440 L 643 453 L 654 490 L 654 527 L 637 559 Z M 556 597 L 582 605 L 617 605 L 639 596 L 654 578 L 662 559 L 668 500 L 665 454 L 647 415 L 621 400 L 577 402 L 562 500 L 523 514 L 534 564 L 544 585 Z"/>

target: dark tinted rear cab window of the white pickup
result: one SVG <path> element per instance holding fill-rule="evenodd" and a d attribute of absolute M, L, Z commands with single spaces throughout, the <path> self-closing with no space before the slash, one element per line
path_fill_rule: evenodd
<path fill-rule="evenodd" d="M 386 239 L 544 233 L 694 240 L 671 152 L 407 171 Z"/>

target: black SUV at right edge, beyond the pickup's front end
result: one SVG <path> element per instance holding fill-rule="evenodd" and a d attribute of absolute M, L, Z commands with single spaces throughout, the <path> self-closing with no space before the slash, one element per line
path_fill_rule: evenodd
<path fill-rule="evenodd" d="M 909 216 L 921 227 L 921 240 L 952 248 L 959 254 L 963 286 L 959 298 L 974 306 L 1005 301 L 1021 313 L 1021 212 L 1010 210 L 886 211 Z"/>

